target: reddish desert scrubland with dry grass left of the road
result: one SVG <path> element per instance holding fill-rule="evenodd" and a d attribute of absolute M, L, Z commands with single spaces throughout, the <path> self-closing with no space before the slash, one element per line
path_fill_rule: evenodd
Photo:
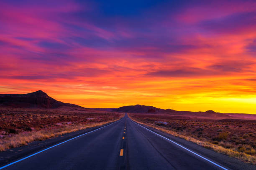
<path fill-rule="evenodd" d="M 123 114 L 62 108 L 0 108 L 0 151 L 118 120 Z"/>

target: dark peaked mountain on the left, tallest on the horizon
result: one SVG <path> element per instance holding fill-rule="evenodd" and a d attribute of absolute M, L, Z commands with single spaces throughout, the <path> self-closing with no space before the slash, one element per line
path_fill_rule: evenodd
<path fill-rule="evenodd" d="M 0 94 L 0 106 L 2 107 L 26 107 L 26 108 L 58 108 L 66 107 L 80 107 L 78 105 L 59 102 L 51 98 L 42 90 L 31 92 L 28 94 Z"/>

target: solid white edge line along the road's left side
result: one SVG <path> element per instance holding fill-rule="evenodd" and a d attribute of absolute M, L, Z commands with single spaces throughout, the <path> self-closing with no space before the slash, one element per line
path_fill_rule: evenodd
<path fill-rule="evenodd" d="M 123 119 L 123 118 L 122 118 L 122 119 Z M 120 122 L 122 119 L 118 120 L 117 122 Z M 113 125 L 114 123 L 117 123 L 117 122 L 110 123 L 109 125 Z M 101 128 L 105 128 L 105 127 L 107 127 L 107 126 L 109 126 L 109 125 L 103 126 L 103 127 L 101 127 Z M 7 165 L 5 165 L 5 166 L 0 167 L 0 170 L 3 169 L 3 168 L 8 167 L 8 166 L 10 166 L 10 165 L 13 165 L 13 164 L 15 164 L 15 163 L 18 163 L 18 162 L 20 162 L 20 161 L 22 161 L 22 160 L 25 160 L 25 159 L 27 159 L 27 158 L 30 158 L 30 157 L 32 157 L 32 156 L 34 156 L 34 155 L 37 155 L 38 153 L 42 153 L 42 152 L 44 152 L 44 151 L 46 151 L 46 150 L 49 150 L 49 149 L 51 149 L 51 148 L 54 148 L 55 146 L 61 145 L 61 144 L 63 144 L 63 143 L 66 143 L 66 142 L 68 142 L 68 141 L 70 141 L 70 140 L 76 139 L 76 138 L 78 138 L 78 137 L 80 137 L 80 136 L 83 136 L 83 135 L 86 135 L 86 134 L 88 134 L 88 133 L 95 132 L 96 130 L 99 130 L 99 129 L 101 129 L 101 128 L 92 130 L 92 131 L 90 131 L 90 132 L 87 132 L 87 133 L 84 133 L 84 134 L 82 134 L 82 135 L 76 136 L 76 137 L 71 138 L 71 139 L 69 139 L 69 140 L 65 140 L 64 142 L 58 143 L 58 144 L 56 144 L 56 145 L 53 145 L 53 146 L 51 146 L 51 147 L 49 147 L 49 148 L 46 148 L 46 149 L 44 149 L 44 150 L 41 150 L 41 151 L 39 151 L 39 152 L 37 152 L 37 153 L 34 153 L 34 154 L 32 154 L 32 155 L 29 155 L 29 156 L 27 156 L 27 157 L 25 157 L 25 158 L 22 158 L 22 159 L 20 159 L 20 160 L 16 160 L 16 161 L 14 161 L 13 163 L 9 163 L 9 164 L 7 164 Z"/>

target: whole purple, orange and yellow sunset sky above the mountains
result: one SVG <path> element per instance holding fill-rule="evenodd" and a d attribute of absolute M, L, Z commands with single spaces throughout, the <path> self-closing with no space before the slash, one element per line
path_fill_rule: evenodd
<path fill-rule="evenodd" d="M 1 0 L 0 93 L 256 114 L 255 0 Z"/>

